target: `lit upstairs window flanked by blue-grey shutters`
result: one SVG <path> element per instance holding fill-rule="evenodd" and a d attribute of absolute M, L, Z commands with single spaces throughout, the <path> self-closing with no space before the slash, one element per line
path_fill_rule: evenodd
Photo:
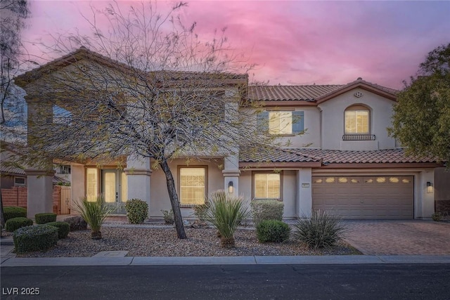
<path fill-rule="evenodd" d="M 304 112 L 265 111 L 257 115 L 257 127 L 274 135 L 288 135 L 304 131 Z"/>

